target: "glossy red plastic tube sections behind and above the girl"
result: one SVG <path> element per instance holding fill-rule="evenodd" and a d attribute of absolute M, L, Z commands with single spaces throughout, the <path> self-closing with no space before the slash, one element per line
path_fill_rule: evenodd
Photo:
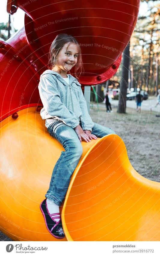
<path fill-rule="evenodd" d="M 139 2 L 8 0 L 8 13 L 25 11 L 25 25 L 0 42 L 2 119 L 24 105 L 41 102 L 39 77 L 47 69 L 49 48 L 58 33 L 73 35 L 81 45 L 81 84 L 99 84 L 113 76 L 134 30 Z"/>

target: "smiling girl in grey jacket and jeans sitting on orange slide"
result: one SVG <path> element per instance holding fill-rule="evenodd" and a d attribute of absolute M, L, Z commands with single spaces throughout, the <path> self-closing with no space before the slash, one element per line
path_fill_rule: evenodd
<path fill-rule="evenodd" d="M 82 140 L 88 143 L 92 139 L 96 140 L 97 136 L 115 133 L 110 128 L 92 122 L 81 85 L 70 74 L 74 66 L 75 73 L 79 71 L 80 74 L 82 56 L 79 43 L 71 35 L 57 35 L 50 47 L 50 69 L 41 74 L 38 85 L 44 106 L 41 118 L 45 119 L 49 134 L 65 149 L 54 166 L 46 199 L 40 205 L 47 229 L 56 238 L 65 236 L 59 206 L 82 155 Z"/>

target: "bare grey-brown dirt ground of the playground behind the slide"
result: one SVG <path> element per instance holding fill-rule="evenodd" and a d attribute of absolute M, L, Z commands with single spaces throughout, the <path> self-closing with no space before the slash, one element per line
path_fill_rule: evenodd
<path fill-rule="evenodd" d="M 128 158 L 140 175 L 160 182 L 160 117 L 156 112 L 127 108 L 125 114 L 119 114 L 113 107 L 113 112 L 107 113 L 104 103 L 99 103 L 99 110 L 96 103 L 91 103 L 90 115 L 94 122 L 112 128 L 123 139 Z M 12 240 L 0 232 L 0 241 Z"/>

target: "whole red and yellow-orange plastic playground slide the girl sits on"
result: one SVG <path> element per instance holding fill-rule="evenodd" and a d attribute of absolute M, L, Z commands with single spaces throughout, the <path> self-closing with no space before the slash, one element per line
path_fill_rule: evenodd
<path fill-rule="evenodd" d="M 8 0 L 8 13 L 26 13 L 25 26 L 0 42 L 0 229 L 13 240 L 158 240 L 159 184 L 134 171 L 117 135 L 82 144 L 62 210 L 65 239 L 50 235 L 39 209 L 62 150 L 39 113 L 50 44 L 58 33 L 75 36 L 85 69 L 80 83 L 102 83 L 119 66 L 139 2 Z"/>

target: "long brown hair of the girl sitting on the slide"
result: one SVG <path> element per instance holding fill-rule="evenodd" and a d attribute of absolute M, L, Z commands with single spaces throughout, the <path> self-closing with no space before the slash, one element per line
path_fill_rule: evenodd
<path fill-rule="evenodd" d="M 78 47 L 78 57 L 77 57 L 77 64 L 74 67 L 75 71 L 75 77 L 78 79 L 80 74 L 83 72 L 83 62 L 82 62 L 82 54 L 81 49 L 78 41 L 71 35 L 68 34 L 58 34 L 56 38 L 53 40 L 51 46 L 50 46 L 50 52 L 49 52 L 49 59 L 48 59 L 48 67 L 52 69 L 57 62 L 57 56 L 60 52 L 60 50 L 63 48 L 63 46 L 66 43 L 75 43 Z M 68 45 L 68 46 L 69 46 Z M 68 47 L 67 47 L 68 48 Z M 53 56 L 53 51 L 55 53 L 55 57 Z M 70 71 L 69 71 L 69 74 Z"/>

